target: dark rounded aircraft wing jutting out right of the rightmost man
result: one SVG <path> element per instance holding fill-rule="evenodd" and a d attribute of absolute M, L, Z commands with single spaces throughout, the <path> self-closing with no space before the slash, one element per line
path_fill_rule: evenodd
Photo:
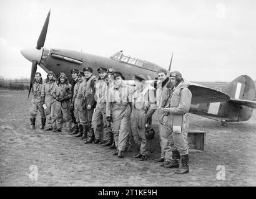
<path fill-rule="evenodd" d="M 228 101 L 230 96 L 212 88 L 190 82 L 189 90 L 192 93 L 192 104 L 214 103 Z"/>

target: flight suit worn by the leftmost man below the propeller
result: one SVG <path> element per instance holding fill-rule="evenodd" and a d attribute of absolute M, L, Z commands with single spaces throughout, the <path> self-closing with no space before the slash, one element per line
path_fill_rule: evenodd
<path fill-rule="evenodd" d="M 32 100 L 31 100 L 31 108 L 29 109 L 29 114 L 32 119 L 36 119 L 37 110 L 39 110 L 41 114 L 41 119 L 45 119 L 46 116 L 44 114 L 44 108 L 41 103 L 41 92 L 42 92 L 42 78 L 41 80 L 33 81 L 32 83 Z"/>

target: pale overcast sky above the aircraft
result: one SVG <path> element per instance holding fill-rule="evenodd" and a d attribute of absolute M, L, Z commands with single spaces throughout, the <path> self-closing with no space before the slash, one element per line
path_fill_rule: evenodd
<path fill-rule="evenodd" d="M 256 1 L 231 0 L 0 0 L 1 76 L 30 76 L 20 50 L 36 47 L 49 9 L 44 47 L 104 57 L 124 50 L 164 68 L 174 52 L 172 70 L 187 80 L 256 80 Z"/>

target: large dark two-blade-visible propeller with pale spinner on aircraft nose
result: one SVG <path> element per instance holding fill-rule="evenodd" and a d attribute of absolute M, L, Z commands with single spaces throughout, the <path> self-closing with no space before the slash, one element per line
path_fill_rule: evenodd
<path fill-rule="evenodd" d="M 32 81 L 34 80 L 34 76 L 35 76 L 35 73 L 36 73 L 36 70 L 37 70 L 37 64 L 39 64 L 40 60 L 41 60 L 41 58 L 38 59 L 38 57 L 40 57 L 40 56 L 38 56 L 38 54 L 39 55 L 41 54 L 42 47 L 44 47 L 44 42 L 46 40 L 46 34 L 47 34 L 48 25 L 49 25 L 50 14 L 51 14 L 51 9 L 47 14 L 46 21 L 44 22 L 44 26 L 42 27 L 41 33 L 40 33 L 39 38 L 37 40 L 36 49 L 40 50 L 40 52 L 39 51 L 38 52 L 33 51 L 33 52 L 27 53 L 27 51 L 25 51 L 25 50 L 21 51 L 21 53 L 24 54 L 24 57 L 26 57 L 26 58 L 28 58 L 29 60 L 32 61 L 30 85 L 29 85 L 29 94 L 30 94 L 31 89 L 32 89 Z M 30 55 L 27 55 L 27 54 L 30 54 Z M 28 94 L 28 97 L 29 97 L 29 94 Z"/>

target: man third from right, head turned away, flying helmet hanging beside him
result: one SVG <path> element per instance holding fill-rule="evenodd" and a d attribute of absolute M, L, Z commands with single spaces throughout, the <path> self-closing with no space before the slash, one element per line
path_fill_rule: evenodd
<path fill-rule="evenodd" d="M 154 87 L 145 83 L 144 75 L 135 75 L 136 90 L 132 96 L 132 113 L 130 115 L 132 135 L 134 141 L 140 146 L 140 153 L 132 157 L 147 160 L 149 155 L 149 143 L 145 138 L 145 124 L 156 109 Z"/>

